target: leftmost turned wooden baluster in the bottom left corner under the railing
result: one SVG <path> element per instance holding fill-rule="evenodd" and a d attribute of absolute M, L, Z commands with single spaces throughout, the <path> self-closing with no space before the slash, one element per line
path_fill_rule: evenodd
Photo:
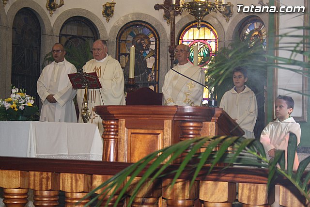
<path fill-rule="evenodd" d="M 0 170 L 0 187 L 7 207 L 24 207 L 28 203 L 28 172 Z"/>

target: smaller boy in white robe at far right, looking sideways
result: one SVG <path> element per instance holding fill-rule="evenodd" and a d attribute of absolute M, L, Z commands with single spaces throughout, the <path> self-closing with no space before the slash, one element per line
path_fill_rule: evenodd
<path fill-rule="evenodd" d="M 270 122 L 262 131 L 260 142 L 266 151 L 267 158 L 275 157 L 276 149 L 285 150 L 285 159 L 287 160 L 287 145 L 289 141 L 289 132 L 297 137 L 297 145 L 300 143 L 301 129 L 300 125 L 290 117 L 294 109 L 294 100 L 290 96 L 278 96 L 275 103 L 275 113 L 277 120 Z M 287 164 L 287 163 L 286 163 Z M 285 164 L 285 165 L 286 165 Z M 299 161 L 295 153 L 293 169 L 297 170 Z"/>

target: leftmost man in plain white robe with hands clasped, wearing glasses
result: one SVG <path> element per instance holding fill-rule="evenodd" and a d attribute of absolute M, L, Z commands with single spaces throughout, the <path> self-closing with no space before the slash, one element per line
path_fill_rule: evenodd
<path fill-rule="evenodd" d="M 66 51 L 60 43 L 52 48 L 54 62 L 47 65 L 38 81 L 37 92 L 43 103 L 40 121 L 78 122 L 73 98 L 77 90 L 72 88 L 68 73 L 76 73 L 76 67 L 66 61 Z"/>

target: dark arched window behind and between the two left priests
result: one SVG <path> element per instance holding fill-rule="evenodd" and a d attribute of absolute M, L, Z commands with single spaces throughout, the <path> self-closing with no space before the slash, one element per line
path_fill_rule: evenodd
<path fill-rule="evenodd" d="M 67 50 L 66 58 L 75 64 L 77 69 L 92 59 L 91 47 L 98 39 L 98 33 L 93 22 L 83 16 L 73 16 L 63 23 L 59 42 Z"/>

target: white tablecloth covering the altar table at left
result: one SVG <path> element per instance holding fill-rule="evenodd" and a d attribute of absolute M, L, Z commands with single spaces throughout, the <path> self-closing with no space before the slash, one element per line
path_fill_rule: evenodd
<path fill-rule="evenodd" d="M 102 160 L 95 124 L 0 121 L 0 156 Z"/>

